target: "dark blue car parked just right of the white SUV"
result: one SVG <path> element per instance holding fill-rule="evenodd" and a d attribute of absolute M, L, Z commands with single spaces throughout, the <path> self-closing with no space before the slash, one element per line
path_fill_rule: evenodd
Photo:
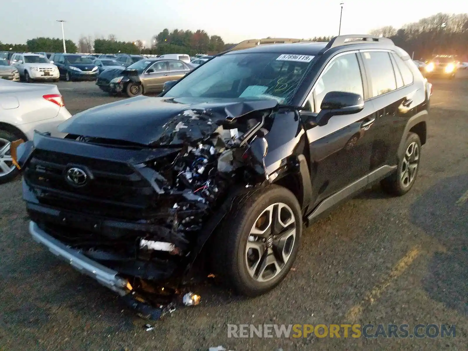
<path fill-rule="evenodd" d="M 55 53 L 51 62 L 59 67 L 60 78 L 71 80 L 96 80 L 99 69 L 89 57 L 78 54 Z"/>

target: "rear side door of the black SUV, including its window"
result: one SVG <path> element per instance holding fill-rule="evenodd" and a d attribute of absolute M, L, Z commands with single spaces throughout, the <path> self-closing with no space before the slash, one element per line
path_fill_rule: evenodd
<path fill-rule="evenodd" d="M 360 55 L 369 79 L 369 98 L 376 110 L 370 170 L 397 164 L 397 149 L 406 116 L 411 115 L 416 88 L 413 76 L 405 82 L 391 51 L 362 50 Z M 407 67 L 408 68 L 408 67 Z"/>

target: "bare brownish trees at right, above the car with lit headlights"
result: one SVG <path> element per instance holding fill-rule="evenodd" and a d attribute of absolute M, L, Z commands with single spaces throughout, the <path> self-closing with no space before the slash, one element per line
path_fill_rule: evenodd
<path fill-rule="evenodd" d="M 408 23 L 400 29 L 385 26 L 370 34 L 388 37 L 414 59 L 430 59 L 433 55 L 458 55 L 468 60 L 468 14 L 439 13 Z"/>

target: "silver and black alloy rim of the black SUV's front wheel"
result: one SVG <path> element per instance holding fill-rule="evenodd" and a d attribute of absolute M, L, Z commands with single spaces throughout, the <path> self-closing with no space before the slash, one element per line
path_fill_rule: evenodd
<path fill-rule="evenodd" d="M 245 262 L 251 278 L 259 283 L 278 276 L 288 262 L 296 240 L 296 218 L 284 203 L 268 206 L 250 229 Z"/>

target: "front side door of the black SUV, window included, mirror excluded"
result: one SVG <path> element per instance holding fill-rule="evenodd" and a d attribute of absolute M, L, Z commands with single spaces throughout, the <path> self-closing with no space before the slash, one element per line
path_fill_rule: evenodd
<path fill-rule="evenodd" d="M 363 80 L 362 73 L 358 51 L 337 54 L 314 84 L 304 109 L 320 112 L 322 100 L 330 91 L 351 92 L 366 98 L 367 80 Z M 333 116 L 328 124 L 307 130 L 316 204 L 368 174 L 374 117 L 372 102 L 366 102 L 356 114 Z"/>

